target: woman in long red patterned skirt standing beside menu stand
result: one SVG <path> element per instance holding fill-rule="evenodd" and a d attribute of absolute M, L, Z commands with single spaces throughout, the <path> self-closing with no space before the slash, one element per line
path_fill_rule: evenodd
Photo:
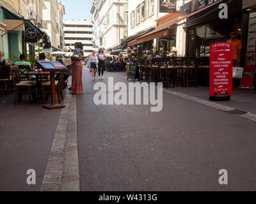
<path fill-rule="evenodd" d="M 83 44 L 81 42 L 75 43 L 75 48 L 79 48 L 79 52 L 74 52 L 70 58 L 73 61 L 72 64 L 72 94 L 81 94 L 83 93 L 83 84 L 82 84 L 82 73 L 83 73 Z M 78 55 L 78 57 L 77 57 Z"/>

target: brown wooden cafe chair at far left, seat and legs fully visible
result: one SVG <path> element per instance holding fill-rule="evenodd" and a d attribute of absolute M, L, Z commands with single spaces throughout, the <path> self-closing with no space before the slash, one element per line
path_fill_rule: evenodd
<path fill-rule="evenodd" d="M 31 94 L 33 101 L 36 99 L 36 82 L 33 81 L 21 81 L 19 75 L 19 67 L 14 66 L 11 68 L 13 86 L 15 91 L 14 104 L 17 103 L 17 95 L 19 94 L 18 102 L 22 98 L 22 94 L 28 94 L 29 103 L 32 103 Z"/>

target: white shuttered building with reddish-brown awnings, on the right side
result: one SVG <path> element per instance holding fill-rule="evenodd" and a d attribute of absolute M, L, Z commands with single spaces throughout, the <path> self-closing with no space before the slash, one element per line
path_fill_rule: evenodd
<path fill-rule="evenodd" d="M 174 22 L 179 17 L 179 8 L 188 0 L 177 0 L 175 13 L 161 13 L 159 0 L 129 0 L 128 1 L 128 46 L 136 46 L 139 54 L 167 50 L 175 47 L 177 55 L 185 54 L 186 29 L 185 24 L 175 22 L 170 28 L 168 22 Z M 152 31 L 153 30 L 153 31 Z M 135 40 L 134 37 L 136 36 Z M 133 38 L 132 38 L 133 37 Z"/>

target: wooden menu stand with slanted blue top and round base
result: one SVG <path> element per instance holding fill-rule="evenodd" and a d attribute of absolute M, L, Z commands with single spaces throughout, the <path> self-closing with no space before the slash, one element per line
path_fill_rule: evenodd
<path fill-rule="evenodd" d="M 51 104 L 42 105 L 43 108 L 56 109 L 65 108 L 65 105 L 56 103 L 56 92 L 55 92 L 55 73 L 60 71 L 67 71 L 67 68 L 58 61 L 36 61 L 38 68 L 43 71 L 50 72 L 51 82 Z"/>

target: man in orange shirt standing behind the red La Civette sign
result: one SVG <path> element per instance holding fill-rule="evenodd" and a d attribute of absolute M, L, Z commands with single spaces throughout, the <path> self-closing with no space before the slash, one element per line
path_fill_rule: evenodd
<path fill-rule="evenodd" d="M 230 36 L 231 38 L 227 40 L 227 43 L 233 45 L 233 66 L 239 66 L 241 59 L 242 43 L 241 40 L 238 40 L 236 38 L 236 31 L 231 31 Z"/>

